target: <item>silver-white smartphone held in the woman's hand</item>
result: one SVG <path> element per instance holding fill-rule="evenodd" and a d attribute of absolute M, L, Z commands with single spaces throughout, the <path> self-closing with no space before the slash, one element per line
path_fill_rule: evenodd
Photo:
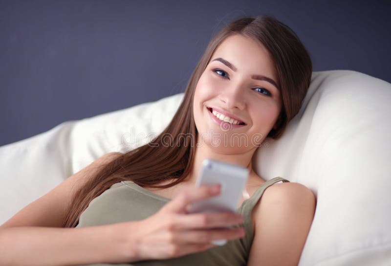
<path fill-rule="evenodd" d="M 189 213 L 197 212 L 236 212 L 240 197 L 247 182 L 249 170 L 243 166 L 205 159 L 195 186 L 220 184 L 220 194 L 216 197 L 197 201 L 190 207 Z M 213 241 L 223 245 L 226 240 Z"/>

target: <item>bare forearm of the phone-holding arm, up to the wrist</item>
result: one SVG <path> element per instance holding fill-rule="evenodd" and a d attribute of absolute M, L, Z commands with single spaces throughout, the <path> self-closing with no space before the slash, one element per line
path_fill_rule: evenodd
<path fill-rule="evenodd" d="M 131 230 L 130 223 L 127 226 Z M 124 263 L 131 258 L 128 241 L 114 225 L 9 227 L 0 229 L 0 265 Z"/>

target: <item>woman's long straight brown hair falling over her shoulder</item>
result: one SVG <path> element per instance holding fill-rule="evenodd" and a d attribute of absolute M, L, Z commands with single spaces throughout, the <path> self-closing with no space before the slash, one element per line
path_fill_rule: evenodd
<path fill-rule="evenodd" d="M 131 180 L 142 187 L 168 188 L 182 182 L 189 175 L 195 156 L 192 141 L 197 134 L 192 108 L 195 87 L 217 46 L 234 34 L 241 34 L 263 44 L 275 63 L 282 110 L 278 128 L 272 129 L 267 136 L 278 139 L 282 135 L 287 123 L 300 110 L 309 87 L 312 74 L 310 56 L 297 35 L 275 18 L 240 18 L 227 24 L 211 39 L 190 77 L 183 101 L 167 128 L 150 143 L 120 155 L 100 168 L 73 195 L 63 227 L 75 227 L 90 201 L 117 182 Z M 167 145 L 167 135 L 172 136 L 171 140 L 176 142 Z M 164 180 L 172 181 L 158 185 Z"/>

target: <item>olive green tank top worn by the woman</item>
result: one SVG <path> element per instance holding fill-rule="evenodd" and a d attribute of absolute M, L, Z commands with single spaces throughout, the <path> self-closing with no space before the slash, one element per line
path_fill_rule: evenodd
<path fill-rule="evenodd" d="M 251 244 L 254 238 L 254 228 L 251 212 L 266 188 L 279 181 L 289 182 L 282 177 L 274 177 L 264 182 L 249 198 L 245 199 L 237 213 L 244 217 L 240 227 L 246 234 L 241 239 L 230 240 L 222 246 L 192 253 L 178 258 L 166 260 L 138 261 L 117 266 L 241 266 L 247 265 Z M 81 214 L 76 227 L 96 226 L 117 222 L 139 221 L 156 213 L 171 199 L 149 191 L 132 181 L 122 181 L 113 184 L 108 190 L 93 199 L 87 209 Z M 236 226 L 236 227 L 238 227 Z M 110 264 L 90 264 L 104 266 Z M 114 264 L 113 264 L 114 265 Z"/>

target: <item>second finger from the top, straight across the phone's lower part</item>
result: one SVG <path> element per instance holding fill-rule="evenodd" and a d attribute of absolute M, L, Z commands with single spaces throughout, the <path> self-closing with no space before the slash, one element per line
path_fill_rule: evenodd
<path fill-rule="evenodd" d="M 243 217 L 234 212 L 195 213 L 178 215 L 172 219 L 171 228 L 176 230 L 228 227 L 243 222 Z"/>

